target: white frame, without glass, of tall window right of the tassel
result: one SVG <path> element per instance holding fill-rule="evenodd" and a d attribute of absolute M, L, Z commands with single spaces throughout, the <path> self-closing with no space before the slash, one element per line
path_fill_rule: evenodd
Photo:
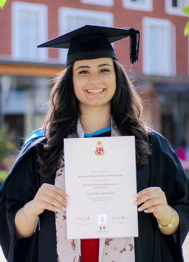
<path fill-rule="evenodd" d="M 150 57 L 149 57 L 149 50 L 150 50 L 150 33 L 149 33 L 149 26 L 162 26 L 168 29 L 169 35 L 167 39 L 170 40 L 169 48 L 167 48 L 167 52 L 169 53 L 169 57 L 171 57 L 170 67 L 167 69 L 167 72 L 156 72 L 154 74 L 151 72 L 150 69 Z M 142 19 L 142 70 L 143 74 L 145 75 L 159 75 L 159 76 L 175 76 L 176 75 L 176 33 L 175 33 L 175 26 L 171 23 L 168 19 L 160 19 L 160 18 L 152 18 L 152 17 L 143 17 Z M 165 39 L 166 40 L 166 39 Z M 156 61 L 154 61 L 156 63 Z M 162 59 L 162 64 L 164 60 Z"/>

